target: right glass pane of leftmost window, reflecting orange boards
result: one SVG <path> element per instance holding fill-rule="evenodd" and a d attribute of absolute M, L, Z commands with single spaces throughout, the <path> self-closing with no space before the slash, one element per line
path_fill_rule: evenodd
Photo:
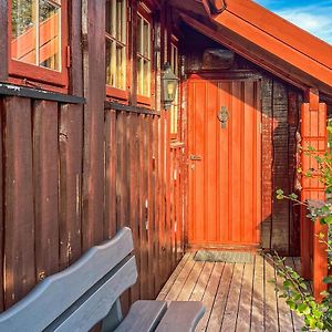
<path fill-rule="evenodd" d="M 60 70 L 60 8 L 50 1 L 40 0 L 39 7 L 39 63 L 52 70 Z"/>

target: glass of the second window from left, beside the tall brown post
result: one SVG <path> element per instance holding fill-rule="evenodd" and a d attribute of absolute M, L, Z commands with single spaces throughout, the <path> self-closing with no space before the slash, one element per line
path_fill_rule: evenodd
<path fill-rule="evenodd" d="M 125 0 L 106 1 L 106 84 L 126 90 L 127 11 Z M 110 90 L 108 90 L 110 91 Z"/>

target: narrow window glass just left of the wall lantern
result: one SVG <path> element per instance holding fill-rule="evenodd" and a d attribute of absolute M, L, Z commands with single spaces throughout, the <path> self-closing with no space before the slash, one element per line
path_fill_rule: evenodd
<path fill-rule="evenodd" d="M 151 96 L 151 59 L 152 59 L 152 29 L 151 22 L 138 13 L 137 31 L 137 94 Z"/>

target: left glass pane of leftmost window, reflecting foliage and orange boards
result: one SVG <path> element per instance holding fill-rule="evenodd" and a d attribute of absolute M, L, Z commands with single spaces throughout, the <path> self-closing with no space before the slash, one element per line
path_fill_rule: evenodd
<path fill-rule="evenodd" d="M 35 1 L 11 1 L 11 56 L 31 64 L 37 63 L 35 15 Z"/>

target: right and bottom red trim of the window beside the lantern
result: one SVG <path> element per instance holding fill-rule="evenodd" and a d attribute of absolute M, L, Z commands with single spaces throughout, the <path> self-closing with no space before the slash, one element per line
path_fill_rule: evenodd
<path fill-rule="evenodd" d="M 149 12 L 147 12 L 147 10 Z M 153 105 L 153 100 L 154 100 L 154 96 L 155 96 L 155 71 L 154 71 L 154 58 L 153 58 L 153 54 L 154 54 L 154 38 L 153 38 L 153 34 L 154 34 L 154 21 L 153 21 L 153 10 L 149 8 L 149 6 L 147 3 L 139 3 L 138 6 L 138 9 L 137 9 L 137 12 L 146 20 L 148 21 L 149 23 L 149 27 L 151 27 L 151 87 L 149 87 L 149 93 L 151 95 L 149 96 L 146 96 L 146 95 L 141 95 L 137 93 L 136 91 L 136 94 L 137 94 L 137 103 L 138 104 L 142 104 L 144 106 L 151 106 Z M 137 77 L 136 77 L 137 80 Z"/>

